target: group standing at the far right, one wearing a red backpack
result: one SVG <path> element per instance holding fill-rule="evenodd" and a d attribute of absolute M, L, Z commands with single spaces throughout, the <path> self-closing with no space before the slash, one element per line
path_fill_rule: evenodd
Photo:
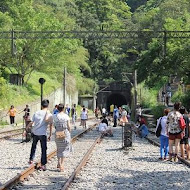
<path fill-rule="evenodd" d="M 159 128 L 161 128 L 159 135 L 160 159 L 166 160 L 169 154 L 169 160 L 177 162 L 179 149 L 183 159 L 190 159 L 190 126 L 185 107 L 181 106 L 179 102 L 176 102 L 173 111 L 165 109 L 164 116 L 158 119 L 156 131 Z"/>

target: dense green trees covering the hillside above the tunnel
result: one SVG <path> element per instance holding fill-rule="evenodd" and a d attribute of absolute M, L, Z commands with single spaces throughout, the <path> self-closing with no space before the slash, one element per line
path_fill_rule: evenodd
<path fill-rule="evenodd" d="M 1 0 L 1 31 L 50 30 L 188 30 L 188 0 Z M 171 76 L 190 82 L 190 40 L 77 39 L 0 40 L 0 97 L 10 73 L 20 74 L 27 87 L 35 71 L 62 83 L 66 67 L 81 94 L 95 83 L 126 80 L 122 73 L 138 70 L 138 82 L 158 91 Z M 71 78 L 72 78 L 71 77 Z M 73 84 L 73 83 L 71 83 Z M 84 85 L 86 84 L 86 85 Z M 29 85 L 30 86 L 30 85 Z M 154 96 L 155 99 L 156 96 Z M 146 99 L 146 98 L 145 98 Z M 145 103 L 148 104 L 148 103 Z"/>

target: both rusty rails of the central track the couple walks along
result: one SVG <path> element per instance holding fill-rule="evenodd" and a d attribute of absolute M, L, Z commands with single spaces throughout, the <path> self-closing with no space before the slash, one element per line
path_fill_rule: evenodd
<path fill-rule="evenodd" d="M 88 129 L 86 129 L 86 130 L 80 132 L 79 134 L 75 135 L 72 138 L 72 143 L 74 143 L 76 140 L 79 140 L 87 132 L 93 130 L 95 126 L 96 126 L 96 124 L 93 124 Z M 77 168 L 75 169 L 75 171 L 72 173 L 72 175 L 66 181 L 66 183 L 65 183 L 65 185 L 63 187 L 64 189 L 68 188 L 68 186 L 70 185 L 70 183 L 72 182 L 72 180 L 79 173 L 80 169 L 85 165 L 85 163 L 88 160 L 88 157 L 89 157 L 90 153 L 92 152 L 93 148 L 95 147 L 95 145 L 98 142 L 100 142 L 100 141 L 101 141 L 101 138 L 100 138 L 100 136 L 98 136 L 96 138 L 96 140 L 94 141 L 94 143 L 92 144 L 92 146 L 90 147 L 90 149 L 88 150 L 88 152 L 85 154 L 84 158 L 81 160 L 80 164 L 77 166 Z M 48 156 L 47 156 L 48 160 L 53 159 L 53 157 L 55 157 L 55 155 L 56 155 L 56 150 L 52 151 L 51 153 L 49 153 Z M 40 165 L 41 165 L 40 161 L 38 161 L 35 165 L 34 164 L 31 165 L 30 167 L 28 167 L 27 169 L 25 169 L 23 172 L 17 174 L 15 177 L 13 177 L 9 181 L 7 181 L 4 185 L 0 186 L 0 190 L 9 189 L 10 187 L 12 187 L 13 185 L 17 184 L 18 182 L 24 181 L 26 178 L 28 178 L 29 175 L 31 175 L 32 173 L 34 173 L 34 171 L 36 171 L 36 168 L 38 168 Z"/>

